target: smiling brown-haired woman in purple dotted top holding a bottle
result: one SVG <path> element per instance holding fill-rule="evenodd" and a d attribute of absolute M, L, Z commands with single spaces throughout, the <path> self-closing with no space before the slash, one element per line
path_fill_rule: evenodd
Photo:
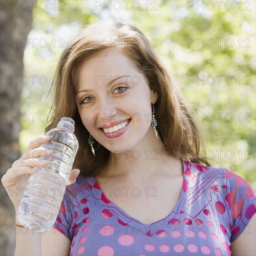
<path fill-rule="evenodd" d="M 18 232 L 16 255 L 256 254 L 252 188 L 199 156 L 187 104 L 138 28 L 86 27 L 61 55 L 52 90 L 46 131 L 74 119 L 78 169 L 54 228 Z M 26 186 L 33 167 L 46 166 L 39 156 L 14 162 L 4 186 Z M 20 197 L 11 199 L 18 209 Z"/>

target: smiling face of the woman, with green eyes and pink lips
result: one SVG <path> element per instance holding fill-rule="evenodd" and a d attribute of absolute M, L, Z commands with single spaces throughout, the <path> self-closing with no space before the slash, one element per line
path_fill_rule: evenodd
<path fill-rule="evenodd" d="M 76 81 L 81 120 L 102 146 L 129 150 L 147 139 L 157 94 L 124 54 L 103 50 L 81 65 Z"/>

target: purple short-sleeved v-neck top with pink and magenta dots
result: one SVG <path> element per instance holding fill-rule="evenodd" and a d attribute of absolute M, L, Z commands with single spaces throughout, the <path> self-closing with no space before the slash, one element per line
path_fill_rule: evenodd
<path fill-rule="evenodd" d="M 150 225 L 109 201 L 94 177 L 79 176 L 54 223 L 71 240 L 70 256 L 230 255 L 230 243 L 250 233 L 253 189 L 228 169 L 182 162 L 179 202 Z"/>

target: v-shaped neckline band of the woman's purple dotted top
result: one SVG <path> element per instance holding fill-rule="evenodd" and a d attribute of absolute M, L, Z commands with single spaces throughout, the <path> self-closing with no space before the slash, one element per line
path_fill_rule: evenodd
<path fill-rule="evenodd" d="M 91 176 L 86 178 L 89 188 L 98 203 L 105 209 L 106 214 L 110 214 L 111 216 L 115 216 L 118 219 L 119 224 L 123 226 L 131 226 L 133 229 L 138 230 L 142 233 L 145 233 L 147 236 L 153 236 L 153 234 L 158 234 L 162 232 L 162 229 L 166 227 L 169 223 L 173 223 L 176 221 L 175 217 L 180 213 L 182 206 L 186 201 L 186 187 L 188 186 L 188 175 L 185 175 L 185 170 L 189 167 L 188 162 L 182 159 L 183 166 L 183 185 L 182 185 L 182 193 L 179 198 L 179 201 L 175 205 L 172 212 L 151 224 L 143 223 L 132 216 L 129 216 L 126 212 L 124 212 L 121 208 L 119 208 L 115 203 L 111 202 L 107 196 L 103 193 L 101 187 L 96 182 L 95 177 Z"/>

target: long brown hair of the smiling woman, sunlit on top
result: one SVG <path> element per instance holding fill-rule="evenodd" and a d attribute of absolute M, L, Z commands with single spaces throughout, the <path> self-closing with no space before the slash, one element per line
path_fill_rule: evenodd
<path fill-rule="evenodd" d="M 134 61 L 145 75 L 149 88 L 157 92 L 155 117 L 163 149 L 170 155 L 209 165 L 207 159 L 199 155 L 202 141 L 197 125 L 189 115 L 188 103 L 159 54 L 137 27 L 110 20 L 88 25 L 64 49 L 48 94 L 48 97 L 53 94 L 53 104 L 45 132 L 55 128 L 63 116 L 69 116 L 75 121 L 74 133 L 79 141 L 79 150 L 74 168 L 79 168 L 85 176 L 97 175 L 109 160 L 110 151 L 97 141 L 94 144 L 96 156 L 91 152 L 88 145 L 89 133 L 76 106 L 74 86 L 75 70 L 94 54 L 109 48 L 121 51 Z"/>

